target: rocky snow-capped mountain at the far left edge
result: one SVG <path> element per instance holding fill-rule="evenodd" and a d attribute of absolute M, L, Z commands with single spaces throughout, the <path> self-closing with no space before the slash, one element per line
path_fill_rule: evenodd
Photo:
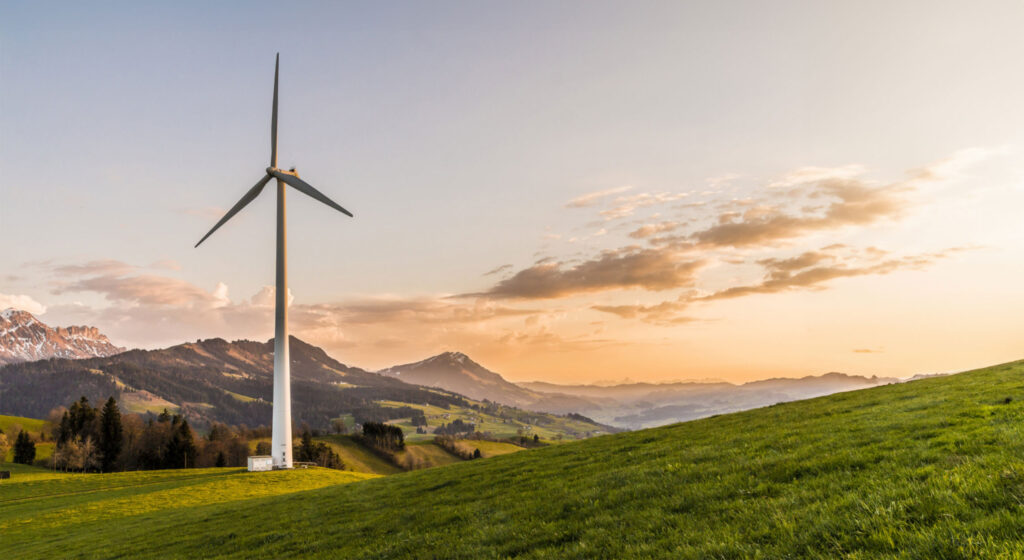
<path fill-rule="evenodd" d="M 95 327 L 52 328 L 28 311 L 0 311 L 0 364 L 50 357 L 102 357 L 124 351 Z"/>

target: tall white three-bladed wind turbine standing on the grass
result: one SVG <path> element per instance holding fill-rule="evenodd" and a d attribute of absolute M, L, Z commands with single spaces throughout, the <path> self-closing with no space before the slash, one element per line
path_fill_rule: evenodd
<path fill-rule="evenodd" d="M 224 222 L 231 219 L 249 203 L 253 202 L 263 191 L 263 187 L 270 179 L 278 179 L 278 278 L 275 290 L 275 307 L 273 314 L 273 429 L 270 437 L 270 456 L 273 458 L 273 468 L 292 468 L 292 385 L 291 369 L 288 354 L 288 267 L 287 267 L 287 235 L 285 232 L 285 185 L 294 187 L 299 192 L 303 192 L 330 206 L 331 208 L 352 217 L 352 213 L 345 210 L 323 192 L 316 190 L 309 183 L 299 178 L 299 174 L 292 168 L 291 171 L 278 169 L 278 70 L 281 62 L 281 53 L 273 62 L 273 110 L 270 114 L 270 167 L 266 168 L 266 174 L 249 189 L 242 199 L 224 214 L 223 218 L 213 226 L 213 229 L 203 235 L 203 239 L 196 244 L 206 241 Z"/>

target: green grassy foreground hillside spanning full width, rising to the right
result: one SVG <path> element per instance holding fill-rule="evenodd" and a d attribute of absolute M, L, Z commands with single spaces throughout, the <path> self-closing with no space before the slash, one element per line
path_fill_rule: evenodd
<path fill-rule="evenodd" d="M 1014 362 L 356 483 L 15 478 L 0 556 L 1022 558 L 1022 428 Z"/>

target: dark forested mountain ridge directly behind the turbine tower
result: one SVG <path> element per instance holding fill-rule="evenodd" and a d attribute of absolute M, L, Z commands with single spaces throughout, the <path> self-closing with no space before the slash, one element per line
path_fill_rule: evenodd
<path fill-rule="evenodd" d="M 332 419 L 354 423 L 409 419 L 424 407 L 459 418 L 487 417 L 498 437 L 518 428 L 558 426 L 563 437 L 607 432 L 584 419 L 515 408 L 493 408 L 437 388 L 404 383 L 346 365 L 323 349 L 291 338 L 292 412 L 295 426 L 327 429 Z M 198 427 L 211 422 L 250 427 L 270 421 L 273 343 L 199 340 L 159 350 L 130 350 L 89 359 L 46 359 L 0 367 L 0 414 L 46 418 L 56 406 L 85 395 L 94 404 L 115 396 L 131 413 L 181 413 Z M 440 414 L 435 415 L 440 418 Z M 428 432 L 439 425 L 431 422 Z M 410 432 L 416 428 L 409 426 Z M 550 430 L 549 430 L 550 431 Z M 555 434 L 552 433 L 552 436 Z"/>

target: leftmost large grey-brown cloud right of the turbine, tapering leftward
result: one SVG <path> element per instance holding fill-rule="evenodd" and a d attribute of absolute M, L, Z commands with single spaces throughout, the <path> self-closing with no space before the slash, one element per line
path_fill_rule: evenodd
<path fill-rule="evenodd" d="M 624 248 L 569 265 L 542 262 L 516 272 L 480 294 L 495 299 L 550 299 L 607 290 L 671 290 L 692 286 L 700 259 L 681 259 L 671 249 Z M 465 297 L 465 296 L 463 296 Z"/>

